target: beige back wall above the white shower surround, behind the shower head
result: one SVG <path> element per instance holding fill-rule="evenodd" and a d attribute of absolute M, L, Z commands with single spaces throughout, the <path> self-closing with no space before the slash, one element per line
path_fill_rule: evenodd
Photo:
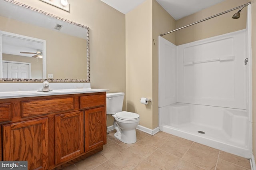
<path fill-rule="evenodd" d="M 180 28 L 182 26 L 192 24 L 199 20 L 203 20 L 204 18 L 213 16 L 226 10 L 230 10 L 237 6 L 246 4 L 247 2 L 248 0 L 226 0 L 210 8 L 206 8 L 204 10 L 201 10 L 200 12 L 196 12 L 195 14 L 177 20 L 176 28 Z M 231 17 L 237 11 L 238 10 L 234 10 L 233 12 L 228 12 L 221 16 L 176 31 L 176 45 L 194 42 L 212 36 L 218 36 L 221 34 L 245 29 L 247 7 L 245 7 L 242 12 L 240 12 L 241 16 L 239 19 L 232 19 Z M 165 38 L 165 36 L 163 37 Z"/>

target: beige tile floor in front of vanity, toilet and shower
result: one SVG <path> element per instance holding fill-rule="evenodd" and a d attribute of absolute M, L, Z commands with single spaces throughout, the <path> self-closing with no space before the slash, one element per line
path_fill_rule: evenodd
<path fill-rule="evenodd" d="M 136 130 L 134 144 L 120 142 L 114 132 L 101 152 L 64 170 L 250 170 L 248 159 L 165 132 Z"/>

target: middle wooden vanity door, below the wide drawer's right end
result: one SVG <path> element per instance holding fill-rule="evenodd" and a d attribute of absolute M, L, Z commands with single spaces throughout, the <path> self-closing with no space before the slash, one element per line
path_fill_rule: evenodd
<path fill-rule="evenodd" d="M 84 114 L 72 112 L 55 116 L 55 163 L 84 152 Z"/>

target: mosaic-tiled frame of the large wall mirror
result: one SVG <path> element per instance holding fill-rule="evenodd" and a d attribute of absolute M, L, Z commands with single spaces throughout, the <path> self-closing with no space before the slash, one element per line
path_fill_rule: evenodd
<path fill-rule="evenodd" d="M 37 8 L 34 8 L 34 7 L 31 7 L 31 6 L 28 6 L 26 4 L 22 4 L 20 2 L 16 2 L 14 0 L 4 0 L 6 2 L 10 2 L 14 5 L 18 5 L 20 7 L 23 7 L 23 8 L 27 8 L 29 10 L 33 10 L 35 12 L 39 12 L 41 14 L 44 14 L 46 16 L 50 16 L 50 17 L 53 17 L 53 18 L 56 18 L 58 20 L 62 20 L 64 22 L 68 22 L 70 24 L 73 24 L 75 26 L 79 26 L 79 27 L 82 27 L 82 28 L 85 28 L 87 30 L 87 36 L 86 36 L 86 45 L 87 45 L 87 48 L 86 48 L 86 51 L 87 51 L 87 79 L 8 79 L 8 78 L 0 78 L 0 83 L 41 83 L 43 81 L 48 81 L 48 82 L 52 82 L 52 83 L 81 83 L 81 82 L 90 82 L 90 47 L 89 47 L 89 27 L 87 26 L 84 26 L 84 25 L 81 25 L 81 24 L 78 24 L 76 22 L 73 22 L 73 21 L 70 21 L 70 20 L 66 20 L 64 18 L 61 18 L 59 16 L 56 16 L 56 15 L 53 15 L 53 14 L 50 14 L 48 12 L 45 12 L 45 11 L 42 11 L 42 10 L 39 10 Z"/>

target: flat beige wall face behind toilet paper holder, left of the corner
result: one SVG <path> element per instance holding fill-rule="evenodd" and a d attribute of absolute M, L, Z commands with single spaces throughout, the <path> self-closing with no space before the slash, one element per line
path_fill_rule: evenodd
<path fill-rule="evenodd" d="M 127 111 L 140 115 L 140 125 L 152 129 L 152 0 L 126 14 L 126 102 Z"/>

